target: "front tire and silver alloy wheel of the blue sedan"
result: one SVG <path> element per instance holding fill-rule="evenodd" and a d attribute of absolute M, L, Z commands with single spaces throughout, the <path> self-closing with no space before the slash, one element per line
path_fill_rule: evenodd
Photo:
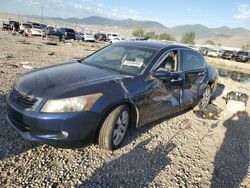
<path fill-rule="evenodd" d="M 118 149 L 126 135 L 130 122 L 129 107 L 121 105 L 105 118 L 98 136 L 98 144 L 103 149 Z"/>

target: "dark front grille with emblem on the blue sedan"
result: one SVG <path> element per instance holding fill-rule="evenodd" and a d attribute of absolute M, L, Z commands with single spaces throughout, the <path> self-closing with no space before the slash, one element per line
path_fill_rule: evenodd
<path fill-rule="evenodd" d="M 11 99 L 15 103 L 17 103 L 25 108 L 31 108 L 37 102 L 37 99 L 35 99 L 34 97 L 20 93 L 19 91 L 15 90 L 15 89 L 13 89 L 13 91 L 11 93 Z"/>

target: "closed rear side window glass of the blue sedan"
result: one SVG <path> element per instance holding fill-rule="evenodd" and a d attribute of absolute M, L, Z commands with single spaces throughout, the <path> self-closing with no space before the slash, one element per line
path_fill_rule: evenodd
<path fill-rule="evenodd" d="M 199 53 L 191 50 L 182 50 L 181 62 L 183 70 L 192 70 L 204 66 L 204 58 Z"/>

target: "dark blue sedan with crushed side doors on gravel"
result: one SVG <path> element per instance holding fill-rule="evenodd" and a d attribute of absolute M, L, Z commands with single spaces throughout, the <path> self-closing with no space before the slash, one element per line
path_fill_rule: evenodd
<path fill-rule="evenodd" d="M 206 108 L 217 77 L 188 47 L 116 43 L 19 77 L 7 95 L 7 120 L 28 140 L 114 150 L 130 127 L 195 105 Z"/>

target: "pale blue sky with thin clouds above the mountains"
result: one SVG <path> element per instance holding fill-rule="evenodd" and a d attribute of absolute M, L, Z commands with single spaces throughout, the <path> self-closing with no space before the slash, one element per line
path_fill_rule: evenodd
<path fill-rule="evenodd" d="M 0 12 L 47 17 L 151 20 L 250 29 L 250 0 L 0 0 Z"/>

